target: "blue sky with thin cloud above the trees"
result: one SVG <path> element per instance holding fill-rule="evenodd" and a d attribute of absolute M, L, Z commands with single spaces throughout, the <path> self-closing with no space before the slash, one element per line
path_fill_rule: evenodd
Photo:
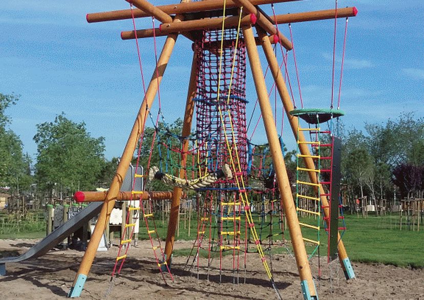
<path fill-rule="evenodd" d="M 338 7 L 346 6 L 356 6 L 359 11 L 356 17 L 349 18 L 348 25 L 341 103 L 347 113 L 343 117 L 347 128 L 363 129 L 365 122 L 384 123 L 400 112 L 423 117 L 424 1 L 338 0 Z M 123 0 L 2 1 L 0 93 L 20 95 L 20 101 L 8 114 L 13 118 L 12 130 L 33 157 L 36 124 L 52 121 L 61 112 L 76 122 L 86 122 L 92 136 L 104 136 L 107 158 L 121 155 L 143 97 L 135 42 L 122 41 L 119 35 L 122 30 L 132 29 L 132 21 L 88 24 L 86 13 L 126 8 L 129 5 Z M 331 8 L 331 0 L 275 5 L 277 14 Z M 269 6 L 264 9 L 271 13 Z M 136 24 L 138 29 L 151 28 L 152 20 L 137 19 Z M 345 20 L 339 19 L 336 79 L 344 25 Z M 306 107 L 330 105 L 333 26 L 333 20 L 292 25 Z M 287 25 L 280 26 L 280 30 L 289 36 Z M 159 48 L 163 41 L 163 37 L 157 39 Z M 153 39 L 140 40 L 140 47 L 143 70 L 150 79 L 154 68 Z M 293 57 L 289 55 L 295 92 Z M 161 84 L 167 122 L 183 117 L 191 56 L 191 42 L 180 36 Z M 265 60 L 262 62 L 265 70 Z M 267 82 L 270 88 L 270 80 Z M 249 118 L 256 100 L 250 76 L 247 98 Z M 298 93 L 294 98 L 299 106 Z M 253 119 L 257 118 L 258 115 Z M 294 148 L 287 127 L 285 121 L 283 136 L 288 148 Z M 265 142 L 262 133 L 263 128 L 259 128 L 253 140 Z"/>

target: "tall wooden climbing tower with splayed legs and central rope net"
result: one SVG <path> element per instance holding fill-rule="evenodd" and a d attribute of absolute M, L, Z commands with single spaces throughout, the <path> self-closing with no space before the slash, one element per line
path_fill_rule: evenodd
<path fill-rule="evenodd" d="M 250 65 L 263 116 L 269 154 L 272 158 L 272 165 L 275 172 L 275 184 L 279 188 L 281 206 L 286 213 L 287 227 L 290 231 L 294 257 L 298 266 L 302 293 L 304 299 L 318 298 L 287 176 L 282 146 L 273 120 L 258 46 L 265 53 L 275 85 L 288 115 L 293 110 L 293 106 L 272 44 L 278 43 L 286 50 L 291 50 L 292 44 L 278 30 L 278 24 L 348 17 L 356 15 L 357 11 L 355 8 L 330 9 L 318 12 L 274 15 L 271 18 L 259 7 L 259 5 L 263 4 L 288 1 L 291 0 L 206 0 L 193 3 L 186 2 L 175 5 L 154 6 L 146 0 L 127 0 L 127 2 L 137 9 L 94 13 L 87 16 L 89 22 L 117 19 L 133 19 L 134 21 L 134 18 L 150 16 L 162 23 L 159 28 L 144 30 L 135 30 L 134 28 L 131 31 L 121 32 L 121 38 L 138 39 L 154 37 L 155 45 L 157 37 L 166 36 L 166 39 L 162 52 L 157 59 L 157 65 L 152 79 L 145 90 L 140 110 L 128 142 L 125 145 L 116 175 L 105 197 L 96 228 L 76 274 L 75 281 L 69 293 L 70 297 L 77 297 L 82 292 L 94 260 L 97 245 L 104 231 L 105 224 L 109 220 L 110 212 L 114 207 L 122 178 L 133 157 L 138 140 L 144 132 L 147 114 L 149 114 L 149 110 L 152 108 L 167 63 L 176 45 L 177 38 L 181 34 L 194 42 L 194 56 L 181 133 L 181 168 L 177 175 L 181 179 L 186 178 L 185 166 L 187 164 L 186 154 L 189 145 L 188 136 L 192 132 L 192 121 L 196 112 L 196 131 L 197 133 L 201 132 L 201 136 L 198 138 L 199 161 L 204 161 L 204 165 L 199 168 L 198 175 L 202 177 L 211 175 L 213 172 L 218 172 L 217 170 L 222 168 L 223 164 L 228 164 L 232 174 L 234 174 L 232 179 L 214 175 L 215 183 L 211 187 L 213 190 L 202 191 L 206 195 L 208 193 L 215 194 L 214 197 L 219 202 L 221 221 L 232 222 L 232 230 L 224 230 L 223 227 L 220 228 L 220 251 L 239 250 L 239 228 L 242 221 L 241 212 L 243 210 L 243 217 L 246 218 L 247 227 L 252 234 L 253 241 L 257 245 L 257 251 L 262 260 L 265 272 L 272 286 L 277 291 L 274 285 L 273 275 L 269 270 L 262 252 L 261 241 L 256 232 L 255 222 L 251 217 L 250 199 L 247 193 L 247 141 L 245 129 L 245 106 L 247 102 L 245 95 L 245 67 L 247 60 Z M 256 28 L 258 36 L 255 36 L 253 33 L 253 27 Z M 176 79 L 174 78 L 174 80 Z M 175 99 L 172 99 L 172 101 L 175 101 Z M 299 131 L 298 117 L 289 116 L 288 118 L 294 137 L 299 141 L 305 141 L 303 132 Z M 187 139 L 184 139 L 184 137 L 187 137 Z M 324 195 L 326 194 L 325 189 L 315 176 L 315 164 L 312 157 L 310 157 L 309 149 L 300 146 L 300 153 L 304 155 L 305 168 L 308 169 L 307 172 L 311 182 L 319 185 L 321 205 L 324 207 L 328 206 L 327 196 Z M 321 190 L 324 191 L 321 192 Z M 174 247 L 181 193 L 182 185 L 175 186 L 172 194 L 173 199 L 164 251 L 164 257 L 168 261 L 172 257 Z M 205 196 L 205 203 L 208 203 L 207 199 L 207 196 Z M 324 209 L 324 215 L 328 218 L 326 211 Z M 207 213 L 202 218 L 204 218 L 202 221 L 206 223 L 208 221 L 210 222 L 210 217 Z M 232 240 L 230 244 L 223 243 L 224 236 L 227 241 Z M 351 269 L 345 247 L 341 240 L 338 241 L 337 250 L 338 258 L 343 263 L 342 267 L 345 271 L 347 268 Z M 348 278 L 353 277 L 353 272 L 348 270 L 347 273 L 349 274 Z M 280 297 L 278 291 L 277 295 Z"/>

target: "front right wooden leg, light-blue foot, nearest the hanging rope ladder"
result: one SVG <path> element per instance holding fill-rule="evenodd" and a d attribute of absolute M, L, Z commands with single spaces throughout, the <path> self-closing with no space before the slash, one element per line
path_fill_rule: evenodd
<path fill-rule="evenodd" d="M 301 278 L 302 292 L 305 299 L 317 299 L 315 284 L 312 280 L 311 269 L 306 254 L 305 243 L 302 239 L 302 231 L 299 225 L 296 208 L 294 206 L 293 195 L 291 194 L 290 183 L 287 176 L 287 170 L 284 163 L 283 152 L 277 134 L 277 128 L 272 116 L 271 104 L 269 103 L 266 90 L 264 74 L 262 72 L 258 49 L 255 43 L 255 37 L 251 26 L 243 27 L 244 41 L 249 57 L 250 68 L 255 82 L 256 92 L 258 94 L 259 105 L 265 125 L 265 132 L 268 138 L 269 149 L 272 155 L 272 162 L 277 175 L 278 187 L 284 205 L 284 211 L 287 216 L 287 223 L 290 231 L 291 242 L 293 245 L 294 256 L 298 264 L 299 275 Z M 269 42 L 269 39 L 268 39 Z"/>

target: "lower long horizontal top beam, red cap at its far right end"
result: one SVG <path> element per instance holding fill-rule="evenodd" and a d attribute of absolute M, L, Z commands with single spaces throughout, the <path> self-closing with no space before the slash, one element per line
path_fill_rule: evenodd
<path fill-rule="evenodd" d="M 350 16 L 355 16 L 357 9 L 355 7 L 347 7 L 337 9 L 337 18 L 345 18 Z M 312 20 L 324 20 L 324 19 L 333 19 L 335 17 L 335 10 L 319 10 L 311 12 L 301 12 L 293 14 L 281 14 L 276 15 L 278 24 L 287 24 L 295 22 L 306 22 Z M 238 16 L 228 16 L 225 19 L 225 28 L 235 27 L 238 25 Z M 241 25 L 247 26 L 251 24 L 249 16 L 244 16 L 241 19 Z M 180 23 L 172 24 L 162 24 L 160 28 L 155 28 L 156 36 L 167 35 L 171 32 L 188 32 L 191 30 L 203 30 L 203 29 L 216 29 L 221 28 L 222 26 L 222 17 L 221 18 L 205 18 L 200 20 L 189 20 L 182 21 Z M 153 37 L 153 29 L 141 29 L 137 30 L 137 37 Z M 135 38 L 134 31 L 122 31 L 122 39 L 133 39 Z M 271 39 L 272 40 L 272 39 Z"/>

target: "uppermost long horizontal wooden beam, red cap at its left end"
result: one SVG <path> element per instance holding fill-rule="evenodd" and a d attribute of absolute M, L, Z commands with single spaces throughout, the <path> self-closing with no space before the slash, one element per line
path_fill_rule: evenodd
<path fill-rule="evenodd" d="M 261 4 L 292 2 L 292 1 L 299 1 L 299 0 L 251 0 L 251 3 L 253 5 L 261 5 Z M 199 2 L 160 5 L 160 6 L 157 6 L 157 8 L 166 14 L 183 14 L 183 13 L 193 13 L 193 12 L 199 12 L 199 11 L 217 10 L 217 9 L 222 9 L 223 6 L 224 6 L 223 0 L 206 0 L 206 1 L 199 1 Z M 226 7 L 235 8 L 238 6 L 237 4 L 234 3 L 234 1 L 227 0 Z M 151 14 L 147 13 L 144 10 L 134 9 L 134 17 L 136 18 L 148 17 L 150 15 Z M 131 9 L 114 10 L 114 11 L 107 11 L 107 12 L 96 12 L 96 13 L 87 14 L 86 18 L 88 23 L 131 19 L 132 12 L 131 12 Z"/>

